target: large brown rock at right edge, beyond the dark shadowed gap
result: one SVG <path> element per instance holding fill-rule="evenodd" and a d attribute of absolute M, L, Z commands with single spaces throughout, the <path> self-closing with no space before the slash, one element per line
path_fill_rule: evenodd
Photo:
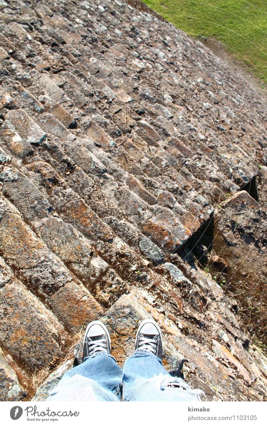
<path fill-rule="evenodd" d="M 267 212 L 246 191 L 220 204 L 214 214 L 212 249 L 225 261 L 227 286 L 243 292 L 243 309 L 254 316 L 258 332 L 266 332 Z M 252 311 L 252 312 L 251 312 Z M 248 321 L 251 322 L 248 318 Z M 250 328 L 253 329 L 251 324 Z"/>

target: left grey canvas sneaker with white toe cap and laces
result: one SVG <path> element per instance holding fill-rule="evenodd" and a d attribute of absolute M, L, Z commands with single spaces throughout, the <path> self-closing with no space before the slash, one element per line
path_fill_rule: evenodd
<path fill-rule="evenodd" d="M 101 321 L 92 321 L 85 330 L 83 343 L 83 361 L 96 354 L 110 354 L 111 341 L 109 332 Z"/>

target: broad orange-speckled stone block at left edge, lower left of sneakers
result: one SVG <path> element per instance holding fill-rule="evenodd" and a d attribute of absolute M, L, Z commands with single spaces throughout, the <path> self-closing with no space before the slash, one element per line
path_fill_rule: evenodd
<path fill-rule="evenodd" d="M 23 367 L 43 368 L 63 356 L 70 337 L 2 258 L 0 265 L 0 344 Z"/>

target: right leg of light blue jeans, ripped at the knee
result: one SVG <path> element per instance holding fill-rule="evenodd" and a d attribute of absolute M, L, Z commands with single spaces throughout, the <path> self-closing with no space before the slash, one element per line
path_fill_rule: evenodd
<path fill-rule="evenodd" d="M 202 393 L 172 377 L 148 351 L 137 350 L 125 361 L 122 381 L 124 401 L 199 401 Z"/>

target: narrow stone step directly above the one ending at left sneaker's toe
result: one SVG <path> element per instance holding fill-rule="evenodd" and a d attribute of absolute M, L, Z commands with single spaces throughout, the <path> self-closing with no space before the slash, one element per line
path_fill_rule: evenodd
<path fill-rule="evenodd" d="M 42 168 L 45 165 L 41 162 L 32 163 L 30 169 Z M 16 205 L 27 223 L 31 224 L 50 250 L 63 260 L 94 296 L 97 296 L 100 303 L 110 305 L 110 301 L 116 298 L 116 293 L 121 292 L 118 287 L 121 289 L 125 287 L 123 281 L 100 256 L 94 254 L 92 247 L 79 236 L 72 225 L 53 216 L 56 214 L 55 209 L 26 176 L 14 168 L 8 168 L 8 171 L 6 169 L 7 167 L 3 168 L 0 178 L 10 172 L 13 176 L 16 175 L 16 180 L 3 180 L 3 195 Z M 52 177 L 48 168 L 46 172 L 47 179 L 54 178 L 55 182 L 56 176 Z M 108 290 L 105 291 L 105 288 Z"/>

